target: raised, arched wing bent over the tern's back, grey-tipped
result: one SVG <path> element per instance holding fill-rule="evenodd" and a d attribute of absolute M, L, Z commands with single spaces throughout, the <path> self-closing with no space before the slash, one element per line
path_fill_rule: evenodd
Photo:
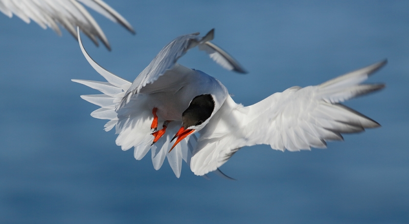
<path fill-rule="evenodd" d="M 189 34 L 177 37 L 156 55 L 150 64 L 139 74 L 133 81 L 131 87 L 126 92 L 120 107 L 128 103 L 131 97 L 138 94 L 147 84 L 155 82 L 159 77 L 171 70 L 177 60 L 184 56 L 186 52 L 197 45 L 199 49 L 206 51 L 210 57 L 222 67 L 228 70 L 245 73 L 245 70 L 240 67 L 228 53 L 224 52 L 215 44 L 209 42 L 214 37 L 214 29 L 209 31 L 205 36 L 199 37 L 199 33 Z"/>

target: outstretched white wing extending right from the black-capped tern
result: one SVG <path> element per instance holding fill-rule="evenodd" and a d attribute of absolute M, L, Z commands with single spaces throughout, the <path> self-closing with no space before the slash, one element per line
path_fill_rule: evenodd
<path fill-rule="evenodd" d="M 340 102 L 384 87 L 360 84 L 385 65 L 382 61 L 318 86 L 291 87 L 252 106 L 237 105 L 231 97 L 199 134 L 191 169 L 196 175 L 216 170 L 243 146 L 269 144 L 281 151 L 325 148 L 342 140 L 341 133 L 361 132 L 379 124 Z"/>

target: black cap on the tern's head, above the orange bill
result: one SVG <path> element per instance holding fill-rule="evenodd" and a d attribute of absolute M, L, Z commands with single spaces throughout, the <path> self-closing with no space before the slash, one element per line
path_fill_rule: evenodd
<path fill-rule="evenodd" d="M 212 95 L 203 94 L 194 97 L 188 109 L 182 114 L 183 127 L 188 129 L 192 126 L 201 125 L 212 115 L 214 107 L 215 103 Z"/>

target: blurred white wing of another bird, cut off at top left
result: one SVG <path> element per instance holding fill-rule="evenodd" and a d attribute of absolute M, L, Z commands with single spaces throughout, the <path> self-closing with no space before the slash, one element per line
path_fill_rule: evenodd
<path fill-rule="evenodd" d="M 59 36 L 61 31 L 58 24 L 74 38 L 77 38 L 76 27 L 79 27 L 95 45 L 99 45 L 100 39 L 110 51 L 111 47 L 104 32 L 80 2 L 135 33 L 129 22 L 102 0 L 0 0 L 0 11 L 10 18 L 14 14 L 26 23 L 33 20 L 42 29 L 49 27 Z"/>

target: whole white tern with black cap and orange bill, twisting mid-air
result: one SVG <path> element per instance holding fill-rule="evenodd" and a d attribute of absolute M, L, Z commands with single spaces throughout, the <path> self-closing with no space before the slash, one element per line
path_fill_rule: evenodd
<path fill-rule="evenodd" d="M 325 148 L 326 141 L 342 140 L 341 133 L 379 127 L 376 121 L 340 103 L 382 89 L 383 84 L 360 83 L 386 60 L 321 85 L 291 87 L 244 107 L 236 104 L 215 78 L 176 63 L 198 45 L 226 67 L 241 70 L 231 57 L 220 57 L 227 54 L 212 47 L 211 39 L 212 31 L 203 38 L 198 33 L 176 38 L 132 84 L 99 66 L 79 40 L 85 58 L 108 82 L 73 81 L 104 93 L 81 97 L 101 106 L 91 115 L 110 119 L 105 130 L 116 127 L 116 143 L 122 150 L 134 147 L 134 157 L 140 160 L 151 149 L 155 169 L 166 156 L 176 177 L 180 176 L 182 159 L 195 175 L 202 176 L 217 171 L 244 146 L 269 144 L 280 151 Z M 163 129 L 151 131 L 156 122 L 163 122 Z"/>

